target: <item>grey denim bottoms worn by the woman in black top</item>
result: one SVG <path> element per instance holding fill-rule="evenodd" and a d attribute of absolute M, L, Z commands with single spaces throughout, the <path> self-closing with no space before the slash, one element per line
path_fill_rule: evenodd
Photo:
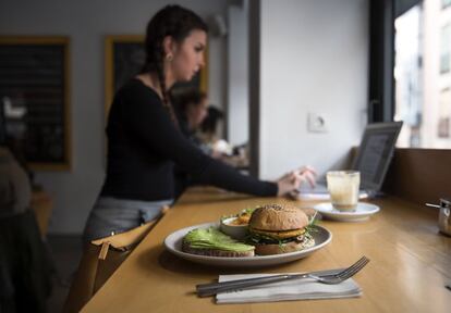
<path fill-rule="evenodd" d="M 164 205 L 173 200 L 138 201 L 99 197 L 90 211 L 83 231 L 83 241 L 89 242 L 123 233 L 158 218 Z"/>

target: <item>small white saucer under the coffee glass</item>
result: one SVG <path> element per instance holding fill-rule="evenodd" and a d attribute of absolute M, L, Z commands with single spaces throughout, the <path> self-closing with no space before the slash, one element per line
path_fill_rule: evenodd
<path fill-rule="evenodd" d="M 370 215 L 379 212 L 379 206 L 365 202 L 358 202 L 355 211 L 352 212 L 342 212 L 333 209 L 330 202 L 316 204 L 314 209 L 321 213 L 324 217 L 343 222 L 366 221 Z"/>

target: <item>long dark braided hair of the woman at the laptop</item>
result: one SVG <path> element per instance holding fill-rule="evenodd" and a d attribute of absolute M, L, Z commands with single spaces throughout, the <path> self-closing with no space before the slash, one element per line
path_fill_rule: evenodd
<path fill-rule="evenodd" d="M 147 24 L 146 63 L 141 73 L 154 72 L 157 74 L 162 103 L 175 126 L 179 123 L 166 86 L 163 40 L 167 36 L 170 36 L 175 42 L 181 43 L 195 29 L 208 33 L 207 25 L 196 13 L 180 5 L 164 7 Z"/>

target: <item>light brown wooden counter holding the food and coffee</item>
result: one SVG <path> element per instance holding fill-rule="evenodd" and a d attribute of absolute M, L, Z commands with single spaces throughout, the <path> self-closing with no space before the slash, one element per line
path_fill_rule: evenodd
<path fill-rule="evenodd" d="M 164 250 L 174 230 L 215 222 L 244 208 L 285 201 L 252 198 L 215 189 L 193 189 L 141 242 L 83 312 L 451 312 L 451 237 L 438 233 L 438 211 L 401 200 L 370 201 L 380 211 L 369 221 L 320 221 L 332 241 L 312 255 L 260 268 L 219 268 L 191 263 Z M 297 206 L 312 202 L 293 201 Z M 288 273 L 344 267 L 366 255 L 370 263 L 355 276 L 359 298 L 216 304 L 197 298 L 195 285 L 219 274 Z"/>

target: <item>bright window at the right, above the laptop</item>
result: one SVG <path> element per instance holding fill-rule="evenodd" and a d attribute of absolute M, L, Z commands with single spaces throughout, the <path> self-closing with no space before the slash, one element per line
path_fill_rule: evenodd
<path fill-rule="evenodd" d="M 398 0 L 399 1 L 399 0 Z M 394 23 L 394 120 L 399 147 L 451 148 L 451 0 L 423 0 Z"/>

